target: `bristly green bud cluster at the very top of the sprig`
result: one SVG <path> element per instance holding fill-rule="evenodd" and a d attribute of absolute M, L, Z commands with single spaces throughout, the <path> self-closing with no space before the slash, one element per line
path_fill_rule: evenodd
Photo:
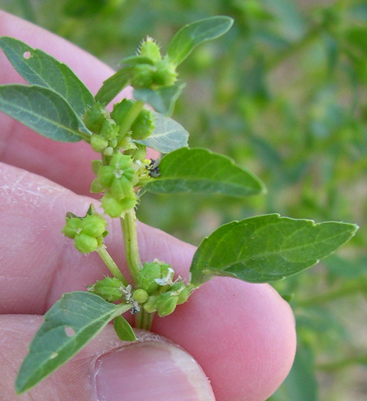
<path fill-rule="evenodd" d="M 149 36 L 138 49 L 138 60 L 131 69 L 130 83 L 134 88 L 158 88 L 171 86 L 177 81 L 176 65 L 166 56 L 154 39 Z"/>

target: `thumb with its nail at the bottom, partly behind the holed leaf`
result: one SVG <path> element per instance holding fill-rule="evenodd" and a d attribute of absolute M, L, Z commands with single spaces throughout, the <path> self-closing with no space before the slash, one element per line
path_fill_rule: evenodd
<path fill-rule="evenodd" d="M 41 323 L 41 316 L 0 316 L 0 394 L 4 401 L 215 399 L 205 373 L 186 351 L 146 331 L 136 332 L 138 341 L 121 341 L 112 325 L 43 382 L 16 396 L 16 372 Z"/>

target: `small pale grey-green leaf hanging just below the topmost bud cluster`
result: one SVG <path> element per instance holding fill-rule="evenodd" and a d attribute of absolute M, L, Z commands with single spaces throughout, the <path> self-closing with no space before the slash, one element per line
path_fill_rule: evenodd
<path fill-rule="evenodd" d="M 158 113 L 162 113 L 165 116 L 171 116 L 176 100 L 185 86 L 185 83 L 178 82 L 175 85 L 159 89 L 134 89 L 134 98 L 150 104 Z"/>

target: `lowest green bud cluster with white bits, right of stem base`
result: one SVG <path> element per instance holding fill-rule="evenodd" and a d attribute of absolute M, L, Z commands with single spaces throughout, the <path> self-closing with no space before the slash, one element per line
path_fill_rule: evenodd
<path fill-rule="evenodd" d="M 167 263 L 158 260 L 144 263 L 138 277 L 139 288 L 133 297 L 146 312 L 156 311 L 161 317 L 167 316 L 177 305 L 187 301 L 190 289 L 181 280 L 172 281 L 173 275 L 174 271 Z"/>

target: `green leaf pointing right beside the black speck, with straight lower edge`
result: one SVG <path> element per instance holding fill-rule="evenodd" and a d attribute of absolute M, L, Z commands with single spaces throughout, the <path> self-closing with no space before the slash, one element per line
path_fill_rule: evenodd
<path fill-rule="evenodd" d="M 202 148 L 181 148 L 162 158 L 160 177 L 144 189 L 158 194 L 198 192 L 247 196 L 265 192 L 264 184 L 227 156 Z"/>

